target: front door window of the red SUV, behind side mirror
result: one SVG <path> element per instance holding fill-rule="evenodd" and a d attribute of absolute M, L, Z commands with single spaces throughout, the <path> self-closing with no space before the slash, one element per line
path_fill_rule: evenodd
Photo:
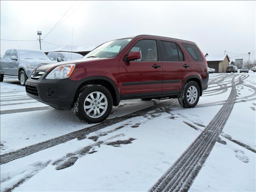
<path fill-rule="evenodd" d="M 155 40 L 140 40 L 137 42 L 130 52 L 140 52 L 141 58 L 137 61 L 157 61 L 157 46 Z"/>

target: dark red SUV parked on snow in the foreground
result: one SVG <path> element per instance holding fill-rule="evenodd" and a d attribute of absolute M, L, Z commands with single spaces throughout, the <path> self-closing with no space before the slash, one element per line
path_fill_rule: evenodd
<path fill-rule="evenodd" d="M 194 42 L 138 35 L 106 42 L 80 60 L 40 66 L 27 80 L 26 92 L 96 123 L 120 100 L 178 98 L 181 106 L 192 108 L 208 78 L 206 59 Z"/>

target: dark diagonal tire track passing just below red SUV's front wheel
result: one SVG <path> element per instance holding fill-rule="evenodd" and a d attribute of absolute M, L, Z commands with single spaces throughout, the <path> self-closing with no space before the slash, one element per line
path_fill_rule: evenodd
<path fill-rule="evenodd" d="M 13 152 L 8 152 L 8 153 L 5 153 L 5 154 L 2 154 L 2 155 L 0 155 L 0 164 L 5 164 L 7 162 L 16 160 L 18 158 L 28 156 L 28 155 L 33 154 L 35 152 L 38 152 L 38 151 L 56 146 L 58 144 L 67 142 L 69 140 L 78 138 L 81 135 L 82 136 L 87 135 L 89 133 L 92 133 L 92 132 L 95 132 L 97 130 L 106 128 L 108 126 L 114 125 L 114 124 L 122 122 L 124 120 L 130 119 L 130 118 L 133 118 L 133 117 L 136 117 L 136 116 L 142 116 L 143 114 L 145 114 L 149 111 L 160 108 L 162 106 L 166 106 L 166 105 L 174 103 L 174 102 L 176 102 L 176 101 L 168 100 L 168 101 L 162 102 L 160 104 L 156 104 L 156 105 L 150 106 L 148 108 L 144 108 L 142 110 L 139 110 L 139 111 L 136 111 L 136 112 L 133 112 L 133 113 L 130 113 L 130 114 L 126 114 L 124 116 L 107 119 L 104 122 L 101 122 L 99 124 L 95 124 L 93 126 L 90 126 L 90 127 L 87 127 L 87 128 L 81 129 L 81 130 L 70 132 L 68 134 L 64 134 L 62 136 L 52 138 L 52 139 L 46 140 L 44 142 L 40 142 L 40 143 L 31 145 L 31 146 L 21 148 L 19 150 L 13 151 Z"/>

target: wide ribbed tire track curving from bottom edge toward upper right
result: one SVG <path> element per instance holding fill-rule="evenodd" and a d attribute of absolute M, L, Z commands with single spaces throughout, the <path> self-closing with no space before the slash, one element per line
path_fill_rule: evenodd
<path fill-rule="evenodd" d="M 150 189 L 151 192 L 188 191 L 222 132 L 236 100 L 235 76 L 225 103 L 202 133 Z"/>

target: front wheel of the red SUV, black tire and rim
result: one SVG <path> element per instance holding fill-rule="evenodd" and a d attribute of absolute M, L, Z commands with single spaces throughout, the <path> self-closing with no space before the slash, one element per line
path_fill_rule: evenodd
<path fill-rule="evenodd" d="M 73 110 L 82 122 L 98 123 L 109 116 L 112 106 L 112 95 L 108 89 L 102 85 L 86 85 L 78 91 Z"/>

